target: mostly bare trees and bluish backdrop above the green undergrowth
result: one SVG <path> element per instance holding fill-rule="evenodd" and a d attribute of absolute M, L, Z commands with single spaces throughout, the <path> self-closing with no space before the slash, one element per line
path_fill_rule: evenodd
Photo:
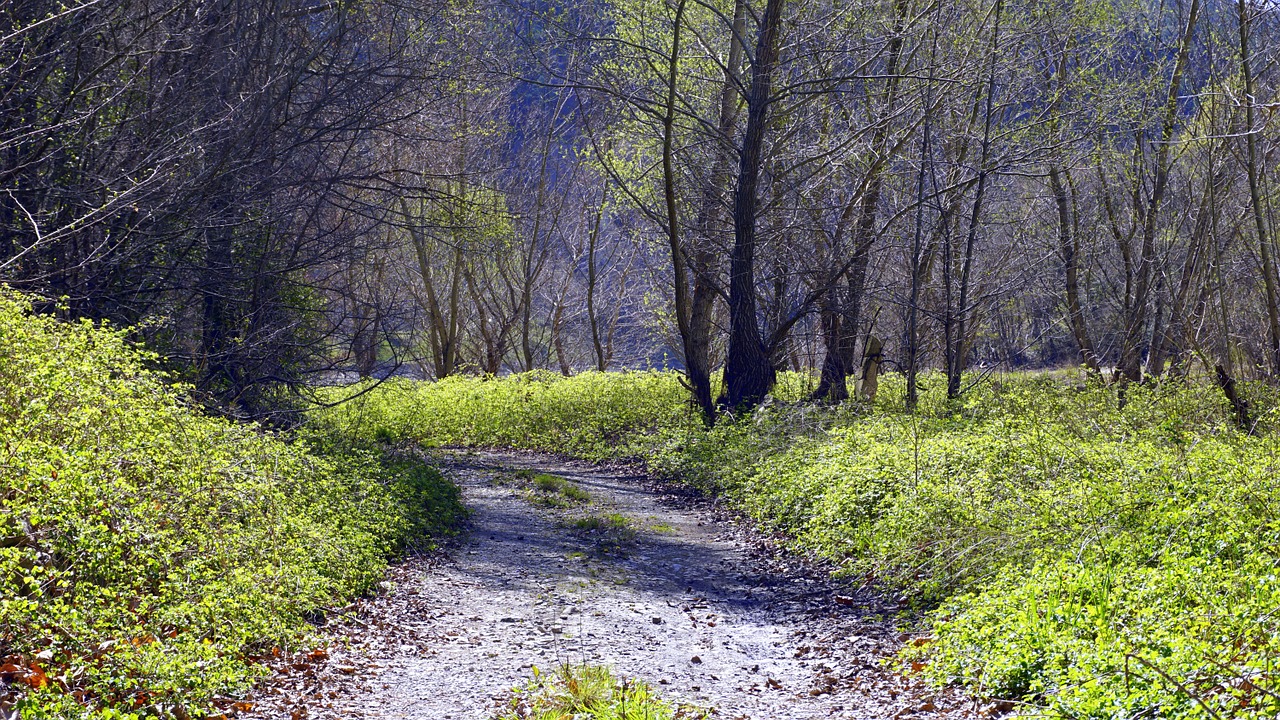
<path fill-rule="evenodd" d="M 1151 3 L 6 4 L 0 277 L 211 407 L 865 356 L 1274 374 L 1276 24 Z M 882 350 L 868 352 L 872 338 Z M 1217 370 L 1221 369 L 1220 373 Z M 344 375 L 347 374 L 347 375 Z"/>

